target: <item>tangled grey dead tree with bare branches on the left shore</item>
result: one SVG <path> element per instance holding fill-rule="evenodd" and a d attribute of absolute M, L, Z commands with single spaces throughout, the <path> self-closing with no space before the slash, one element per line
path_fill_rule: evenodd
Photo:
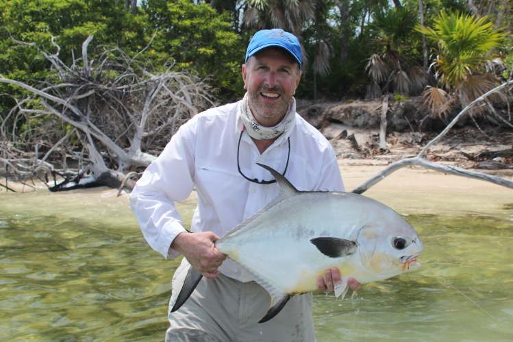
<path fill-rule="evenodd" d="M 71 66 L 60 60 L 59 47 L 55 54 L 40 51 L 52 70 L 38 86 L 0 77 L 31 94 L 0 119 L 0 163 L 20 178 L 53 176 L 51 191 L 131 189 L 126 175 L 147 167 L 182 123 L 214 105 L 195 75 L 172 71 L 172 64 L 156 72 L 140 53 L 112 47 L 89 58 L 91 40 Z"/>

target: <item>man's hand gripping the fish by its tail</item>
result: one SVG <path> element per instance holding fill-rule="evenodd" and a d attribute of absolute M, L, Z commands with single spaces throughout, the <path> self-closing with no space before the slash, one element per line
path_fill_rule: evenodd
<path fill-rule="evenodd" d="M 225 254 L 219 252 L 214 245 L 214 241 L 218 239 L 219 236 L 212 232 L 183 232 L 175 237 L 171 248 L 184 254 L 190 265 L 205 278 L 215 279 L 221 274 L 217 268 L 226 259 Z"/>

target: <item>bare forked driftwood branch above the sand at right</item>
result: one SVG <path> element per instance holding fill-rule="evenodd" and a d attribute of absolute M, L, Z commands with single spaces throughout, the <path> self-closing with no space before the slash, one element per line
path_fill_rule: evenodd
<path fill-rule="evenodd" d="M 434 162 L 429 162 L 428 160 L 423 159 L 424 154 L 427 152 L 429 148 L 431 148 L 433 145 L 435 145 L 440 139 L 445 136 L 451 128 L 460 120 L 467 112 L 475 106 L 477 103 L 484 101 L 486 97 L 499 92 L 499 90 L 502 90 L 503 88 L 509 86 L 510 84 L 513 84 L 513 81 L 506 82 L 504 84 L 501 84 L 500 86 L 497 86 L 496 88 L 488 91 L 488 93 L 481 95 L 477 99 L 475 99 L 472 103 L 468 104 L 452 121 L 445 127 L 445 130 L 443 130 L 438 136 L 433 138 L 429 143 L 427 143 L 423 149 L 418 153 L 417 156 L 414 158 L 407 158 L 403 160 L 398 160 L 397 162 L 392 162 L 392 164 L 388 165 L 384 170 L 376 173 L 371 178 L 363 182 L 362 184 L 358 185 L 356 188 L 351 191 L 352 193 L 358 193 L 362 194 L 365 191 L 367 191 L 369 188 L 374 186 L 375 184 L 381 182 L 381 180 L 384 180 L 388 175 L 391 173 L 403 168 L 403 167 L 409 167 L 409 166 L 419 166 L 424 167 L 426 169 L 431 169 L 434 171 L 440 171 L 443 173 L 449 173 L 451 175 L 461 175 L 468 178 L 474 178 L 477 180 L 484 180 L 486 182 L 492 182 L 497 185 L 506 186 L 508 188 L 513 188 L 513 182 L 510 180 L 505 180 L 503 178 L 499 178 L 493 175 L 487 175 L 486 173 L 480 173 L 477 171 L 469 171 L 466 169 L 460 169 L 458 167 L 452 167 L 449 165 L 444 164 L 438 164 Z"/>

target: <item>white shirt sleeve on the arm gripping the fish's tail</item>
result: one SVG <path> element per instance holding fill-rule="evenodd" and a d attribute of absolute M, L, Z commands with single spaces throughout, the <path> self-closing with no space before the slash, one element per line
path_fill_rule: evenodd
<path fill-rule="evenodd" d="M 129 195 L 142 234 L 165 258 L 179 256 L 170 246 L 178 234 L 185 232 L 175 202 L 187 199 L 195 186 L 194 149 L 190 146 L 194 137 L 189 128 L 180 127 Z"/>

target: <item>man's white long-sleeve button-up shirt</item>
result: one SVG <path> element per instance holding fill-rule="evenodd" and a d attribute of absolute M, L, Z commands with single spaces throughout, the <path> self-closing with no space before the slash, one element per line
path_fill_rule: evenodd
<path fill-rule="evenodd" d="M 255 184 L 243 178 L 237 158 L 248 178 L 273 180 L 271 173 L 255 163 L 283 173 L 290 147 L 285 177 L 298 190 L 344 191 L 331 145 L 299 114 L 295 125 L 260 154 L 247 132 L 242 132 L 238 106 L 230 103 L 206 110 L 182 125 L 130 195 L 142 234 L 165 257 L 179 256 L 169 248 L 175 236 L 185 230 L 175 202 L 187 199 L 194 188 L 198 206 L 190 230 L 211 231 L 220 237 L 277 195 L 277 183 Z M 237 280 L 251 280 L 229 259 L 219 270 Z"/>

